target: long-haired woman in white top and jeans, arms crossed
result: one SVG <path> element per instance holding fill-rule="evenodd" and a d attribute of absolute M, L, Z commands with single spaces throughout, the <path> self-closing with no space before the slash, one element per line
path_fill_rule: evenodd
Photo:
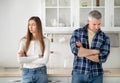
<path fill-rule="evenodd" d="M 50 42 L 43 36 L 39 17 L 28 20 L 27 36 L 20 41 L 18 62 L 23 65 L 22 83 L 48 83 L 46 63 Z"/>

